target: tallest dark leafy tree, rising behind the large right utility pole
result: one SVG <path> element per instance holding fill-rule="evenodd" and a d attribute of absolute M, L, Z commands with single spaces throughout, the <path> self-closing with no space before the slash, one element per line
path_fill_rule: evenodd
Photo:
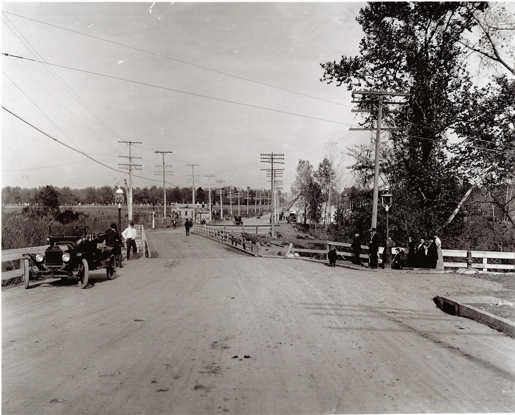
<path fill-rule="evenodd" d="M 373 2 L 356 20 L 365 33 L 361 54 L 322 64 L 321 80 L 346 84 L 349 90 L 383 88 L 410 94 L 407 116 L 396 121 L 385 114 L 383 125 L 406 128 L 406 133 L 392 134 L 397 166 L 411 188 L 420 187 L 426 197 L 434 198 L 445 163 L 445 131 L 459 112 L 453 92 L 467 77 L 458 41 L 474 25 L 472 11 L 459 2 Z M 372 113 L 363 124 L 375 124 L 375 118 Z"/>

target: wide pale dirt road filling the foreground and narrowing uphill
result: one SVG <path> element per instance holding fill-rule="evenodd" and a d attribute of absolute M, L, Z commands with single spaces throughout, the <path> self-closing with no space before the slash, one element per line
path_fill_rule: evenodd
<path fill-rule="evenodd" d="M 3 289 L 3 414 L 515 411 L 515 340 L 432 301 L 493 282 L 149 238 L 114 280 Z"/>

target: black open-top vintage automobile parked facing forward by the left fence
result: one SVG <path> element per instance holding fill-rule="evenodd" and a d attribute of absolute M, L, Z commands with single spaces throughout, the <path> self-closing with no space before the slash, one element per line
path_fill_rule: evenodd
<path fill-rule="evenodd" d="M 73 232 L 61 235 L 52 235 L 52 228 L 48 227 L 47 241 L 50 246 L 45 253 L 23 255 L 25 289 L 29 287 L 30 278 L 39 275 L 58 275 L 63 280 L 76 276 L 79 288 L 85 288 L 89 272 L 101 268 L 106 269 L 107 278 L 112 280 L 119 248 L 106 246 L 105 239 L 105 233 L 88 234 L 86 227 L 78 227 Z"/>

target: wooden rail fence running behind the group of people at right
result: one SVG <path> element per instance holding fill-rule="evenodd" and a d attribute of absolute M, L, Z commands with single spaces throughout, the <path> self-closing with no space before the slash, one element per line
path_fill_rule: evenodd
<path fill-rule="evenodd" d="M 285 256 L 288 254 L 293 254 L 293 257 L 300 258 L 301 255 L 295 255 L 295 253 L 318 253 L 325 255 L 327 260 L 327 253 L 329 252 L 329 246 L 333 245 L 336 247 L 346 247 L 349 250 L 340 250 L 336 249 L 337 255 L 340 257 L 346 258 L 354 258 L 354 254 L 350 252 L 351 244 L 329 241 L 329 240 L 311 240 L 311 239 L 298 239 L 298 243 L 309 243 L 309 244 L 322 244 L 325 245 L 324 249 L 303 249 L 296 248 L 293 246 L 293 243 L 288 247 L 288 251 Z M 368 246 L 362 245 L 362 250 L 367 250 Z M 379 247 L 379 256 L 382 260 L 382 252 L 384 247 Z M 451 262 L 444 261 L 444 268 L 474 268 L 474 269 L 482 269 L 483 271 L 490 270 L 503 270 L 503 271 L 515 271 L 515 252 L 491 252 L 491 251 L 466 251 L 466 250 L 454 250 L 454 249 L 442 249 L 442 255 L 444 258 L 465 258 L 465 262 Z M 360 254 L 361 258 L 366 259 L 368 262 L 368 254 Z M 337 257 L 338 258 L 338 257 Z M 498 260 L 511 260 L 511 264 L 492 264 L 489 263 L 489 259 L 498 259 Z M 480 263 L 474 262 L 474 260 L 480 260 Z M 338 260 L 337 260 L 338 261 Z"/>

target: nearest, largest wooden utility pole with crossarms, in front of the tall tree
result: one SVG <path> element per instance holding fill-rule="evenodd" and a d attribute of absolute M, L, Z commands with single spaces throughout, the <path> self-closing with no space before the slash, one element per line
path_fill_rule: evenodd
<path fill-rule="evenodd" d="M 365 110 L 365 109 L 352 109 L 352 112 L 369 112 L 369 113 L 377 113 L 377 126 L 376 128 L 349 128 L 350 131 L 375 131 L 375 163 L 374 163 L 374 194 L 372 201 L 372 228 L 377 227 L 377 201 L 379 200 L 379 159 L 380 159 L 380 142 L 381 142 L 381 132 L 382 131 L 403 131 L 404 128 L 382 128 L 381 127 L 381 119 L 383 113 L 393 113 L 393 114 L 405 114 L 405 111 L 390 111 L 383 110 L 384 105 L 408 105 L 407 102 L 396 102 L 396 101 L 384 101 L 383 98 L 388 96 L 409 96 L 409 93 L 403 92 L 386 92 L 381 89 L 381 91 L 352 91 L 352 96 L 354 94 L 363 94 L 363 95 L 374 95 L 378 98 L 377 103 L 374 101 L 352 101 L 355 103 L 368 103 L 377 106 L 377 110 Z"/>

